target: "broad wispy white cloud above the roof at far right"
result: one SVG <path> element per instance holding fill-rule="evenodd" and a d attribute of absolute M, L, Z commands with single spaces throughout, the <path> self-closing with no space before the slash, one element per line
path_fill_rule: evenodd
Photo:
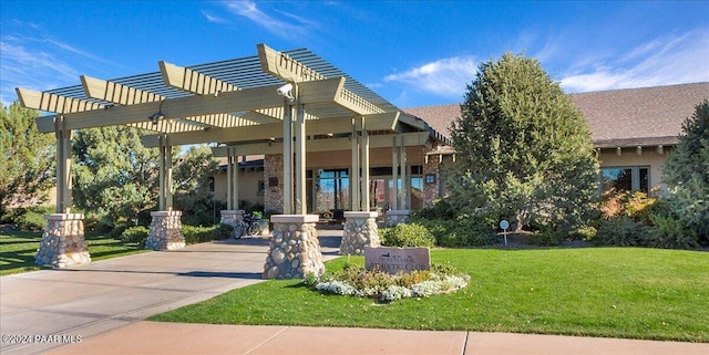
<path fill-rule="evenodd" d="M 709 81 L 709 33 L 696 30 L 657 38 L 599 59 L 561 80 L 568 92 L 646 87 Z"/>

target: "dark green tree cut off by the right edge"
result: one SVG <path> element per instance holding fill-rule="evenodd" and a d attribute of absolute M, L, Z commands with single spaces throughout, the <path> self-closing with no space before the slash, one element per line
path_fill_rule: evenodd
<path fill-rule="evenodd" d="M 697 105 L 682 124 L 677 149 L 662 167 L 672 217 L 709 240 L 709 102 Z"/>

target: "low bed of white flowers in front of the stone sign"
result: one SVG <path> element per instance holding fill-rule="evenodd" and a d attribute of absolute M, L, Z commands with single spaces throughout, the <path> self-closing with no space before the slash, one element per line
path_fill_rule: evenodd
<path fill-rule="evenodd" d="M 308 274 L 304 284 L 322 293 L 372 297 L 391 302 L 407 297 L 428 297 L 434 294 L 461 290 L 470 282 L 470 275 L 451 264 L 433 264 L 431 270 L 389 274 L 378 267 L 366 270 L 360 265 L 346 265 L 340 271 L 320 276 Z"/>

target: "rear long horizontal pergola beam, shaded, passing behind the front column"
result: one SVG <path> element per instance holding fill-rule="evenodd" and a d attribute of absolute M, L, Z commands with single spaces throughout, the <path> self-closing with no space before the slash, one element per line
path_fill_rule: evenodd
<path fill-rule="evenodd" d="M 367 129 L 392 130 L 399 119 L 399 112 L 364 116 Z M 306 129 L 308 135 L 326 135 L 349 133 L 352 130 L 350 117 L 312 119 L 307 121 Z M 428 133 L 427 133 L 428 134 Z M 148 135 L 141 137 L 145 147 L 156 147 L 160 145 L 161 135 Z M 185 132 L 169 135 L 172 145 L 187 145 L 202 143 L 225 143 L 225 142 L 253 142 L 267 140 L 269 138 L 282 137 L 282 124 L 273 123 L 247 127 L 209 129 L 207 132 Z"/>

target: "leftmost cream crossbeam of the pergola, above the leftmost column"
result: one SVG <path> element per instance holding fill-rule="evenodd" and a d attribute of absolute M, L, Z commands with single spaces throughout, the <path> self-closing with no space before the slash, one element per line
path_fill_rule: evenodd
<path fill-rule="evenodd" d="M 53 112 L 56 114 L 71 114 L 105 107 L 104 104 L 88 100 L 72 98 L 28 88 L 18 87 L 16 88 L 16 92 L 22 106 L 32 109 Z M 47 132 L 54 132 L 54 129 Z"/>

